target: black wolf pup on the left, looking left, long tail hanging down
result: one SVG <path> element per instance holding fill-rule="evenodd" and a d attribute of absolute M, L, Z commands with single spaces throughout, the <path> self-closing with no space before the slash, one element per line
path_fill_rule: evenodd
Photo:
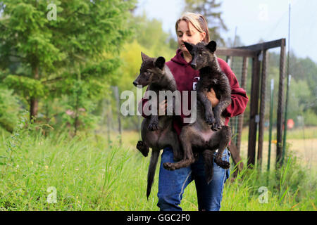
<path fill-rule="evenodd" d="M 175 79 L 170 72 L 170 69 L 165 65 L 163 57 L 150 58 L 141 53 L 142 65 L 139 70 L 139 76 L 133 84 L 135 86 L 149 85 L 149 90 L 155 91 L 159 103 L 159 91 L 175 91 L 177 89 Z M 173 104 L 175 105 L 175 104 Z M 147 174 L 147 198 L 151 193 L 151 186 L 154 181 L 156 164 L 159 159 L 160 150 L 168 146 L 173 148 L 175 160 L 182 158 L 180 146 L 178 143 L 178 135 L 173 130 L 172 115 L 151 115 L 145 118 L 141 125 L 142 141 L 138 141 L 137 149 L 147 156 L 149 148 L 152 148 L 151 160 Z"/>

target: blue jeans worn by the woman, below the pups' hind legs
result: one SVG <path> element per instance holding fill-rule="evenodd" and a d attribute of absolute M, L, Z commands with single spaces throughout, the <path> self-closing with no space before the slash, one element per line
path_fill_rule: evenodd
<path fill-rule="evenodd" d="M 215 153 L 216 155 L 216 153 Z M 223 160 L 229 162 L 230 151 L 223 151 Z M 161 155 L 159 172 L 159 203 L 161 211 L 181 211 L 179 206 L 182 194 L 187 185 L 195 181 L 197 190 L 198 210 L 218 211 L 223 197 L 223 186 L 230 175 L 229 169 L 223 169 L 213 161 L 213 179 L 207 184 L 205 179 L 204 159 L 199 154 L 199 160 L 189 167 L 169 171 L 164 169 L 164 162 L 174 162 L 173 150 L 164 148 Z"/>

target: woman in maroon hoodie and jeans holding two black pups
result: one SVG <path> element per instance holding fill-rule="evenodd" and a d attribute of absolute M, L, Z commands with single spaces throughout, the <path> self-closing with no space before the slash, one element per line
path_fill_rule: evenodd
<path fill-rule="evenodd" d="M 208 43 L 210 41 L 208 25 L 204 16 L 196 13 L 185 13 L 177 20 L 175 30 L 178 35 L 179 49 L 176 51 L 176 56 L 167 62 L 166 65 L 170 68 L 170 71 L 175 77 L 178 90 L 192 91 L 199 80 L 199 71 L 190 67 L 192 56 L 187 51 L 184 42 L 197 44 L 200 41 L 205 41 Z M 232 90 L 232 103 L 225 110 L 225 124 L 227 125 L 229 117 L 240 115 L 244 112 L 248 98 L 244 89 L 240 88 L 237 77 L 235 77 L 228 64 L 220 58 L 218 58 L 218 63 L 221 70 L 228 76 Z M 213 107 L 218 104 L 218 98 L 216 98 L 213 89 L 211 89 L 207 97 L 209 98 L 209 101 L 211 101 Z M 145 101 L 147 100 L 144 99 L 142 103 Z M 166 103 L 160 103 L 159 107 L 166 108 Z M 178 134 L 180 134 L 182 126 L 184 126 L 182 120 L 184 117 L 184 115 L 181 115 L 179 120 L 173 121 L 173 127 Z M 225 149 L 223 152 L 223 160 L 229 161 L 229 158 L 230 152 L 228 149 Z M 214 162 L 213 180 L 207 184 L 204 172 L 204 161 L 201 155 L 199 155 L 199 160 L 189 167 L 176 169 L 174 171 L 164 169 L 164 162 L 174 162 L 172 149 L 163 149 L 161 155 L 158 193 L 159 203 L 157 204 L 160 207 L 160 210 L 182 210 L 179 206 L 182 200 L 182 194 L 184 193 L 186 186 L 192 181 L 195 181 L 197 189 L 198 209 L 206 211 L 220 210 L 223 186 L 230 175 L 229 169 L 220 168 Z"/>

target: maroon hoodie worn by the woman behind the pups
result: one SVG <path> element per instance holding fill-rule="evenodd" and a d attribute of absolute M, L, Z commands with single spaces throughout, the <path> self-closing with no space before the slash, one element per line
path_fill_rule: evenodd
<path fill-rule="evenodd" d="M 225 73 L 225 75 L 227 75 L 231 86 L 231 104 L 228 106 L 228 108 L 226 108 L 224 112 L 224 115 L 226 116 L 225 125 L 228 125 L 229 117 L 234 117 L 244 112 L 245 108 L 247 107 L 249 98 L 247 97 L 246 91 L 244 91 L 244 89 L 242 89 L 239 86 L 237 77 L 235 77 L 235 74 L 232 72 L 231 68 L 225 62 L 225 60 L 218 58 L 218 63 L 220 65 L 221 70 Z M 166 65 L 168 66 L 168 68 L 170 68 L 170 71 L 173 73 L 175 82 L 178 86 L 178 91 L 189 91 L 188 102 L 190 109 L 190 91 L 193 90 L 194 85 L 199 81 L 199 79 L 197 78 L 199 77 L 199 70 L 194 70 L 190 67 L 190 62 L 187 63 L 185 61 L 185 59 L 182 57 L 182 51 L 180 49 L 176 51 L 176 56 L 174 56 L 174 58 L 168 61 Z M 147 99 L 142 98 L 142 106 L 147 101 Z M 142 116 L 147 117 L 146 115 L 144 115 L 143 112 Z M 178 133 L 178 135 L 180 135 L 180 131 L 184 126 L 184 117 L 185 115 L 181 113 L 181 115 L 176 117 L 176 119 L 173 121 L 173 127 L 175 131 Z"/>

